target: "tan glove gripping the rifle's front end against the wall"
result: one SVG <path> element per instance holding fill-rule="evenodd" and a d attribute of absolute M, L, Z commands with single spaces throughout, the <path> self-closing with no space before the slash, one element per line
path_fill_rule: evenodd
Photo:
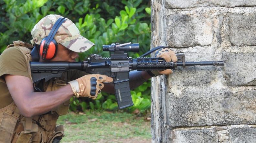
<path fill-rule="evenodd" d="M 156 58 L 164 58 L 166 62 L 170 62 L 170 61 L 176 62 L 178 60 L 175 52 L 169 48 L 164 48 L 158 51 L 158 53 L 156 53 Z M 169 75 L 173 73 L 171 69 L 165 69 L 165 70 L 159 70 L 159 71 L 151 70 L 151 72 L 156 76 Z"/>

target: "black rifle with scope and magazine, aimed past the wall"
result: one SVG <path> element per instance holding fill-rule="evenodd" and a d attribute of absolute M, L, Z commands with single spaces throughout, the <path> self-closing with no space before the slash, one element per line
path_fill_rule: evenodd
<path fill-rule="evenodd" d="M 101 74 L 113 78 L 115 96 L 119 109 L 133 106 L 129 86 L 129 72 L 132 70 L 165 70 L 174 69 L 177 66 L 223 66 L 223 61 L 186 62 L 185 55 L 176 55 L 177 62 L 165 62 L 163 58 L 144 58 L 145 55 L 157 49 L 156 47 L 139 58 L 128 58 L 128 52 L 138 52 L 139 44 L 113 43 L 103 45 L 103 51 L 112 51 L 110 58 L 102 58 L 101 55 L 91 54 L 87 61 L 83 62 L 30 62 L 33 83 L 42 79 L 48 81 L 53 77 L 61 77 L 63 72 L 70 69 L 86 71 L 90 74 Z"/>

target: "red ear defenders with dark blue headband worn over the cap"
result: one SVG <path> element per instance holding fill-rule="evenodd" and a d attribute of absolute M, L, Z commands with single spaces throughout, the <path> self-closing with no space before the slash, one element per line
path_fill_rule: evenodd
<path fill-rule="evenodd" d="M 57 53 L 57 46 L 58 43 L 56 42 L 54 38 L 56 32 L 58 31 L 61 24 L 68 20 L 66 17 L 59 18 L 55 24 L 52 26 L 52 29 L 48 36 L 46 36 L 40 43 L 40 55 L 42 56 L 42 59 L 52 59 L 55 57 Z"/>

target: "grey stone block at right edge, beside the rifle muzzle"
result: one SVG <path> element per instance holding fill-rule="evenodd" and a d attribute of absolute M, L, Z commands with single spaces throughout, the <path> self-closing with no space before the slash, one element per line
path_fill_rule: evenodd
<path fill-rule="evenodd" d="M 222 56 L 228 86 L 256 85 L 256 53 L 223 52 Z"/>

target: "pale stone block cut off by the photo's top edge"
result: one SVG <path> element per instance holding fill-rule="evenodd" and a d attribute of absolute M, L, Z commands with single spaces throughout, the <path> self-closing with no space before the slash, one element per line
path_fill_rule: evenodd
<path fill-rule="evenodd" d="M 166 8 L 191 8 L 191 7 L 205 7 L 205 6 L 255 6 L 255 0 L 166 0 Z"/>

